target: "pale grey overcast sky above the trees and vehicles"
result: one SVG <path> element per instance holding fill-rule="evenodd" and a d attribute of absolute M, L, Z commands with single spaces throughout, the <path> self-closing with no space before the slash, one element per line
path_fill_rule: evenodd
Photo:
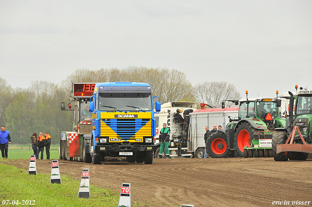
<path fill-rule="evenodd" d="M 13 88 L 131 66 L 227 81 L 242 97 L 312 90 L 312 0 L 0 0 L 0 75 Z"/>

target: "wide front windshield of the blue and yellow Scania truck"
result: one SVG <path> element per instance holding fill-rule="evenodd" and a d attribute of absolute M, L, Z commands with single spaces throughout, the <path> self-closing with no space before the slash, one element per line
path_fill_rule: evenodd
<path fill-rule="evenodd" d="M 152 96 L 144 93 L 100 93 L 99 111 L 152 111 Z"/>

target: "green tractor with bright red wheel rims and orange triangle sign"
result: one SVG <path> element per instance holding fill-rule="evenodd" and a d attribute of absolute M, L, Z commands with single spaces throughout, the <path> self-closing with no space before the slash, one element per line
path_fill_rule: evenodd
<path fill-rule="evenodd" d="M 278 94 L 278 91 L 276 91 Z M 239 104 L 238 117 L 229 117 L 225 130 L 218 130 L 207 139 L 210 157 L 272 157 L 272 135 L 276 127 L 285 127 L 286 119 L 280 117 L 281 99 L 253 98 L 225 100 Z M 222 108 L 225 107 L 223 101 Z M 215 140 L 223 140 L 217 142 Z M 226 145 L 222 144 L 226 143 Z M 226 147 L 225 147 L 226 146 Z"/>

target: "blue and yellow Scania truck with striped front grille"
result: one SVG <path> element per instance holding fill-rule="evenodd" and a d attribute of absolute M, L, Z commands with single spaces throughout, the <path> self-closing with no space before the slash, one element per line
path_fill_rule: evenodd
<path fill-rule="evenodd" d="M 130 163 L 153 163 L 155 108 L 146 83 L 96 83 L 90 97 L 92 134 L 83 135 L 84 162 L 100 164 L 106 157 L 126 157 Z"/>

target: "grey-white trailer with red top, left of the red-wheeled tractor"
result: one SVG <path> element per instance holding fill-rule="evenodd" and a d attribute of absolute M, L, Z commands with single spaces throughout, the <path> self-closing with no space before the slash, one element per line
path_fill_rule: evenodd
<path fill-rule="evenodd" d="M 212 109 L 198 109 L 194 113 L 190 113 L 190 128 L 189 128 L 189 142 L 187 151 L 192 152 L 197 158 L 203 158 L 205 152 L 204 134 L 205 127 L 209 130 L 221 125 L 222 129 L 226 129 L 229 121 L 229 116 L 234 119 L 238 117 L 238 107 L 212 108 Z"/>

